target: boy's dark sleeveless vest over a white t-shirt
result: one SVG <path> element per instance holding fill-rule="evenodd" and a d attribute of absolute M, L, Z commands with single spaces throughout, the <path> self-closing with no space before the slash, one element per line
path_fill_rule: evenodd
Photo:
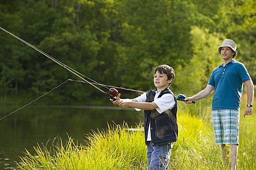
<path fill-rule="evenodd" d="M 166 88 L 160 92 L 158 98 L 167 93 L 174 96 L 173 92 L 169 88 Z M 150 90 L 149 92 L 147 92 L 146 102 L 153 102 L 155 95 L 156 90 Z M 166 110 L 161 114 L 159 114 L 156 109 L 144 111 L 145 142 L 147 142 L 149 122 L 151 125 L 151 141 L 153 145 L 163 145 L 177 141 L 177 100 L 175 96 L 174 100 L 175 106 L 172 109 Z"/>

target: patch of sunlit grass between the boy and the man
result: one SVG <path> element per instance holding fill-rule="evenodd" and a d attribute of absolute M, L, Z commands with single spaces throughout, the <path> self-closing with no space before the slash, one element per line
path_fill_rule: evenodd
<path fill-rule="evenodd" d="M 211 124 L 186 113 L 180 117 L 179 124 L 179 137 L 172 152 L 170 169 L 224 169 L 219 148 L 214 145 Z"/>

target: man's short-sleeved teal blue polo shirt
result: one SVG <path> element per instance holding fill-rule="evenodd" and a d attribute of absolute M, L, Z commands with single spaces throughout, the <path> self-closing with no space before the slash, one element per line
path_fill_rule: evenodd
<path fill-rule="evenodd" d="M 240 97 L 243 91 L 243 82 L 251 77 L 244 64 L 233 59 L 225 67 L 223 63 L 215 68 L 208 85 L 215 87 L 212 101 L 212 110 L 240 109 Z"/>

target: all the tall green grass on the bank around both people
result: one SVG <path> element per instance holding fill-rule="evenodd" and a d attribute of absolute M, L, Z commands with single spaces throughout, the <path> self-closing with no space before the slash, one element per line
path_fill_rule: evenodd
<path fill-rule="evenodd" d="M 179 104 L 179 136 L 168 170 L 227 170 L 220 147 L 214 143 L 210 114 L 203 101 L 191 105 Z M 195 108 L 195 106 L 197 108 Z M 195 110 L 197 109 L 197 110 Z M 242 118 L 238 150 L 239 170 L 256 169 L 256 114 Z M 204 112 L 207 111 L 207 112 Z M 197 113 L 197 114 L 196 114 Z M 69 140 L 48 142 L 34 147 L 36 154 L 26 151 L 20 157 L 20 170 L 147 170 L 143 131 L 127 131 L 127 124 L 109 125 L 105 131 L 87 135 L 87 142 L 78 145 Z M 139 124 L 136 128 L 142 128 Z"/>

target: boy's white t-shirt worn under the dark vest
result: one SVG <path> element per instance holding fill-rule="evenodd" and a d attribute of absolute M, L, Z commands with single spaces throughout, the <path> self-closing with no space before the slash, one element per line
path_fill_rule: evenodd
<path fill-rule="evenodd" d="M 154 98 L 154 103 L 156 103 L 158 105 L 158 108 L 156 108 L 156 110 L 158 111 L 158 113 L 163 113 L 166 110 L 172 109 L 175 106 L 175 100 L 174 100 L 174 96 L 172 94 L 164 94 L 162 95 L 160 98 L 158 98 L 160 92 L 158 93 L 156 91 L 156 95 Z M 137 100 L 138 102 L 146 102 L 147 96 L 146 93 L 141 94 L 140 96 L 138 96 L 137 98 L 135 98 L 135 100 Z M 135 108 L 135 110 L 140 111 L 140 109 Z M 149 122 L 149 127 L 150 127 L 150 122 Z M 150 128 L 148 128 L 148 137 L 147 137 L 147 141 L 151 141 L 151 133 L 150 133 Z"/>

